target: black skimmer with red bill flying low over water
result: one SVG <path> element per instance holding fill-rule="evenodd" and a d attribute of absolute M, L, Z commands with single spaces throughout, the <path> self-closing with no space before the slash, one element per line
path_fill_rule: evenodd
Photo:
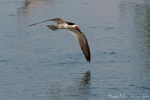
<path fill-rule="evenodd" d="M 66 22 L 61 18 L 54 18 L 54 19 L 50 19 L 50 20 L 46 20 L 46 21 L 42 21 L 39 23 L 43 23 L 43 22 L 47 22 L 47 21 L 54 21 L 57 23 L 56 25 L 47 25 L 48 28 L 50 28 L 51 30 L 55 31 L 57 29 L 67 29 L 69 30 L 78 40 L 78 43 L 81 47 L 81 50 L 83 51 L 85 58 L 87 60 L 87 62 L 90 63 L 91 60 L 91 53 L 90 53 L 90 48 L 88 45 L 88 41 L 86 39 L 85 34 L 79 29 L 79 27 L 75 24 L 75 23 L 71 23 L 71 22 Z M 29 26 L 33 26 L 39 23 L 35 23 Z"/>

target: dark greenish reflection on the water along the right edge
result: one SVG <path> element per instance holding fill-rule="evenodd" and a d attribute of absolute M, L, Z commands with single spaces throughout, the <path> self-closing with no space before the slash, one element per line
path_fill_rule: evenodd
<path fill-rule="evenodd" d="M 138 51 L 143 71 L 140 74 L 141 84 L 145 89 L 150 89 L 150 2 L 145 0 L 142 4 L 134 5 L 134 23 L 137 26 L 135 32 L 135 49 Z M 143 86 L 140 87 L 143 87 Z"/>

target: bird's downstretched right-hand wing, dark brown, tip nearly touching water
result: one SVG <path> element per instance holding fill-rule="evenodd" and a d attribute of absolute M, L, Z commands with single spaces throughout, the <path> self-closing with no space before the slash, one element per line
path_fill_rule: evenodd
<path fill-rule="evenodd" d="M 78 43 L 83 51 L 87 62 L 91 60 L 90 48 L 88 45 L 88 41 L 83 32 L 78 31 L 77 29 L 68 29 L 78 40 Z"/>

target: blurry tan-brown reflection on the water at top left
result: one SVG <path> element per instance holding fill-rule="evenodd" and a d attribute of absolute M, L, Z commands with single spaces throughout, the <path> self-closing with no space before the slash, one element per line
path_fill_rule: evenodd
<path fill-rule="evenodd" d="M 35 15 L 36 13 L 40 13 L 42 15 L 43 11 L 41 11 L 40 8 L 55 5 L 55 3 L 56 0 L 25 0 L 22 7 L 17 8 L 18 27 L 20 28 L 27 26 L 27 22 L 30 18 L 32 18 L 32 15 Z"/>

